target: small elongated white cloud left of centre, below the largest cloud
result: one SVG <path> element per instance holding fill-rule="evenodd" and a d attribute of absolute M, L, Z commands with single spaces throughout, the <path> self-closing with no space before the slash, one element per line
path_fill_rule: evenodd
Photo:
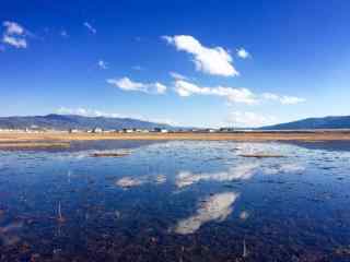
<path fill-rule="evenodd" d="M 159 82 L 141 83 L 141 82 L 133 82 L 129 78 L 121 78 L 121 79 L 108 79 L 107 83 L 124 91 L 138 91 L 138 92 L 144 92 L 149 94 L 164 94 L 166 92 L 166 86 Z"/>

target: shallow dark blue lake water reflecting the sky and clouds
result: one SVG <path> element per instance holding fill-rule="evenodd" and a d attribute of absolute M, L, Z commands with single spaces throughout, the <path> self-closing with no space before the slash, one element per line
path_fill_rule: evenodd
<path fill-rule="evenodd" d="M 0 261 L 350 261 L 350 144 L 0 151 Z"/>

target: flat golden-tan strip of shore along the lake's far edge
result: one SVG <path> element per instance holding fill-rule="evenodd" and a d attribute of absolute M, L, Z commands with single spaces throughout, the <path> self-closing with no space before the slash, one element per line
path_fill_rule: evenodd
<path fill-rule="evenodd" d="M 65 146 L 71 141 L 92 140 L 207 140 L 207 141 L 342 141 L 350 131 L 324 132 L 237 132 L 237 133 L 0 133 L 2 147 Z"/>

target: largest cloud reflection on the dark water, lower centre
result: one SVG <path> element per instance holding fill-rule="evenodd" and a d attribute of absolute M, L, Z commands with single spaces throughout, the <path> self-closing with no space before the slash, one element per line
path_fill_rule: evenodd
<path fill-rule="evenodd" d="M 235 192 L 217 193 L 201 201 L 195 215 L 182 219 L 174 231 L 180 235 L 194 234 L 208 222 L 222 222 L 233 212 L 232 205 L 240 196 Z"/>

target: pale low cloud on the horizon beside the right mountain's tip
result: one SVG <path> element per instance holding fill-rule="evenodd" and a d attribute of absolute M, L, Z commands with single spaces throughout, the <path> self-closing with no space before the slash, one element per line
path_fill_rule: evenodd
<path fill-rule="evenodd" d="M 273 116 L 262 116 L 250 111 L 233 111 L 228 118 L 228 122 L 238 128 L 257 128 L 277 123 Z"/>

